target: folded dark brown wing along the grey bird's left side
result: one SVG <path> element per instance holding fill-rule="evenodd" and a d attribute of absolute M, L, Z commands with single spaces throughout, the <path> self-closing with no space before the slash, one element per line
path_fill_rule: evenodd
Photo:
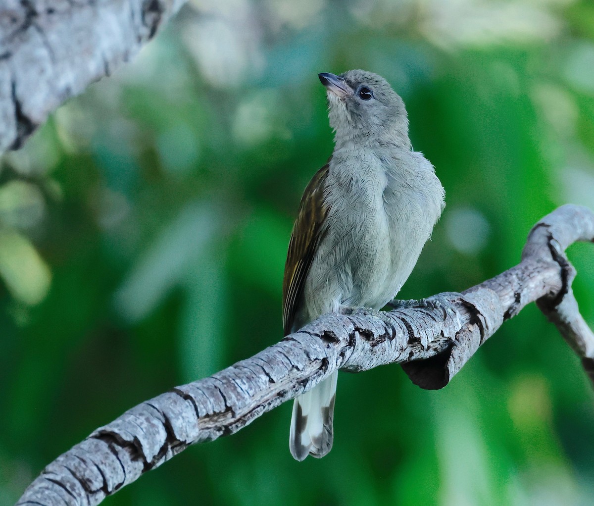
<path fill-rule="evenodd" d="M 328 163 L 311 179 L 299 205 L 299 214 L 293 226 L 289 241 L 285 278 L 283 279 L 283 327 L 285 336 L 290 334 L 295 315 L 302 302 L 305 279 L 314 260 L 318 244 L 323 238 L 328 215 L 328 204 L 324 198 Z"/>

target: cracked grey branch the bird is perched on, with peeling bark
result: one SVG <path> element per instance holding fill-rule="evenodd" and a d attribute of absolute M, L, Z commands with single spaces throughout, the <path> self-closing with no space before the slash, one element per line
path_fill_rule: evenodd
<path fill-rule="evenodd" d="M 594 241 L 594 213 L 564 205 L 533 227 L 522 262 L 462 293 L 441 293 L 390 312 L 327 314 L 247 360 L 146 401 L 59 456 L 19 505 L 99 504 L 189 445 L 233 434 L 310 390 L 336 369 L 391 362 L 416 384 L 441 388 L 527 303 L 539 308 L 594 381 L 594 334 L 571 291 L 564 250 Z"/>

